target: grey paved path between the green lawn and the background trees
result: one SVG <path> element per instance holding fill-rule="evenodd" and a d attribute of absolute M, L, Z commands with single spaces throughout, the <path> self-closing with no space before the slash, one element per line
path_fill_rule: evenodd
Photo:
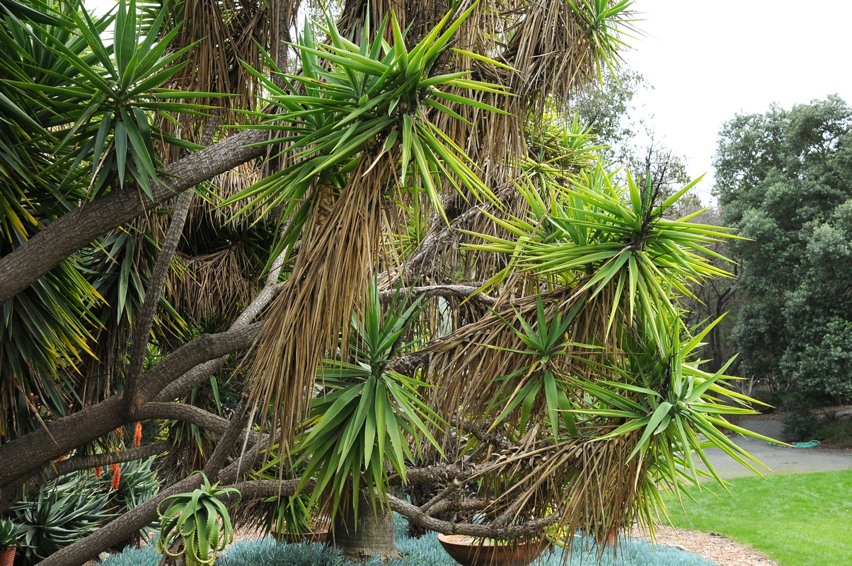
<path fill-rule="evenodd" d="M 778 438 L 783 426 L 771 419 L 743 419 L 739 425 L 744 429 L 753 430 L 763 436 Z M 769 474 L 804 474 L 812 471 L 852 470 L 852 450 L 829 450 L 826 448 L 786 448 L 770 446 L 766 441 L 751 438 L 751 436 L 734 436 L 734 442 L 745 448 L 755 458 L 769 466 L 770 470 L 762 470 L 763 475 Z M 754 476 L 754 472 L 740 465 L 737 461 L 723 453 L 719 448 L 706 451 L 722 478 Z M 757 466 L 756 466 L 757 467 Z M 758 468 L 759 469 L 759 468 Z"/>

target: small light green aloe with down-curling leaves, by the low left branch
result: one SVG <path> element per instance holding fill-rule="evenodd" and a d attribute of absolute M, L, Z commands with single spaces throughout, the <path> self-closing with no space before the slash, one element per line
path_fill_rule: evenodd
<path fill-rule="evenodd" d="M 219 488 L 218 482 L 210 485 L 204 472 L 195 473 L 202 478 L 201 487 L 187 494 L 170 495 L 157 505 L 161 519 L 157 552 L 183 556 L 187 566 L 212 564 L 216 554 L 233 542 L 230 514 L 219 498 L 239 498 L 237 489 Z M 176 545 L 178 542 L 183 543 L 182 548 Z"/>

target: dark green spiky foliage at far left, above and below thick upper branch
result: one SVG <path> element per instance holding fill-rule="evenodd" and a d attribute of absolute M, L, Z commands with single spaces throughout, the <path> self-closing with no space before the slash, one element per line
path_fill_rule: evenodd
<path fill-rule="evenodd" d="M 159 165 L 155 141 L 197 147 L 156 125 L 178 110 L 199 114 L 205 109 L 187 102 L 197 93 L 162 88 L 181 69 L 182 51 L 167 53 L 176 31 L 164 34 L 160 17 L 143 38 L 133 1 L 119 3 L 115 16 L 94 20 L 80 8 L 76 2 L 56 3 L 56 17 L 26 25 L 13 15 L 0 20 L 0 106 L 14 117 L 0 121 L 3 253 L 125 182 L 150 193 L 149 178 L 157 177 Z M 106 43 L 101 35 L 113 24 L 114 42 Z M 135 243 L 126 232 L 112 234 L 5 305 L 0 402 L 10 419 L 3 419 L 0 435 L 23 430 L 27 411 L 35 412 L 31 393 L 55 414 L 71 403 L 79 405 L 78 393 L 85 388 L 76 384 L 78 372 L 95 355 L 103 361 L 98 369 L 107 368 L 97 372 L 101 377 L 112 378 L 114 367 L 123 366 L 113 359 L 123 357 L 117 355 L 120 346 L 106 339 L 101 348 L 94 344 L 107 334 L 122 335 L 113 326 L 126 330 L 140 306 L 147 259 L 156 246 L 140 260 L 134 250 L 141 246 Z M 105 300 L 110 306 L 100 310 Z M 111 332 L 99 336 L 104 326 Z M 119 344 L 126 344 L 120 338 Z M 35 377 L 41 373 L 52 377 Z M 90 389 L 102 393 L 113 386 Z"/>

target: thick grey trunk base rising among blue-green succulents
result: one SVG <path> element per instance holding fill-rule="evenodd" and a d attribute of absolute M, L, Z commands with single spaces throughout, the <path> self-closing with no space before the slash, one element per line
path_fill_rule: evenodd
<path fill-rule="evenodd" d="M 363 563 L 367 558 L 378 555 L 382 562 L 402 555 L 396 550 L 394 517 L 389 509 L 376 508 L 373 512 L 370 500 L 363 494 L 358 501 L 358 511 L 346 505 L 337 513 L 329 534 L 331 544 L 343 556 L 353 562 Z"/>

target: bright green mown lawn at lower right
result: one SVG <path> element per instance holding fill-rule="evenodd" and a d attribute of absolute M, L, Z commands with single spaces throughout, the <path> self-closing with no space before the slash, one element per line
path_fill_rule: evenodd
<path fill-rule="evenodd" d="M 677 528 L 724 534 L 784 566 L 852 564 L 852 471 L 738 477 L 731 493 L 693 489 L 683 516 L 669 504 Z"/>

